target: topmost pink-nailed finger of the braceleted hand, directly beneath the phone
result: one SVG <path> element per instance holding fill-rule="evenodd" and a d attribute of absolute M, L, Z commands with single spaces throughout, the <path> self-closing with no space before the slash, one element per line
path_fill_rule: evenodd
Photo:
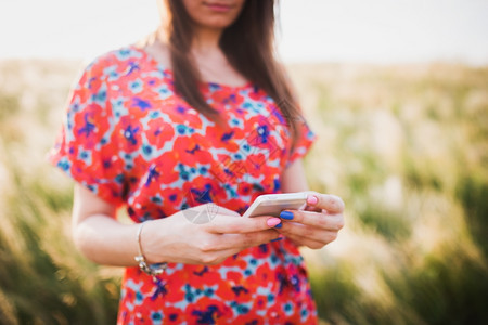
<path fill-rule="evenodd" d="M 280 218 L 262 216 L 253 218 L 229 218 L 218 214 L 211 222 L 206 223 L 207 231 L 219 234 L 243 234 L 269 230 L 281 223 Z"/>

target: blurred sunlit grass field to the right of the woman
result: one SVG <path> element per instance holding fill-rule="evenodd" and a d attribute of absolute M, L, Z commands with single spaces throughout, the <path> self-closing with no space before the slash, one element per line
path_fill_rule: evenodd
<path fill-rule="evenodd" d="M 322 135 L 307 169 L 347 205 L 336 263 L 311 273 L 322 320 L 488 323 L 488 70 L 328 68 L 295 75 L 324 76 L 303 90 Z"/>

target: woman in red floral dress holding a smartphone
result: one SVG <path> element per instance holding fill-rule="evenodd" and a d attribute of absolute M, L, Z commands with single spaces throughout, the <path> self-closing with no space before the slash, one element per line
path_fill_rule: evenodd
<path fill-rule="evenodd" d="M 166 37 L 101 55 L 73 89 L 51 158 L 77 181 L 75 243 L 127 268 L 118 324 L 316 324 L 297 248 L 335 239 L 342 200 L 240 218 L 307 190 L 314 136 L 272 55 L 273 1 L 165 4 Z"/>

